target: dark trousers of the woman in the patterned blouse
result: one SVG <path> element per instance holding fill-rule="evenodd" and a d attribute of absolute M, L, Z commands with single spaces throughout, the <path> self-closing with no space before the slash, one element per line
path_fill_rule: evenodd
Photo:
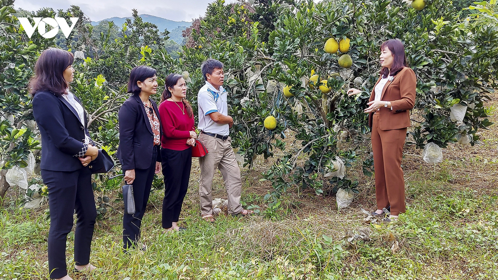
<path fill-rule="evenodd" d="M 135 168 L 135 179 L 133 180 L 133 197 L 135 199 L 135 214 L 130 215 L 124 212 L 123 217 L 123 248 L 131 248 L 136 245 L 140 238 L 140 227 L 142 225 L 143 214 L 147 208 L 150 196 L 150 187 L 154 179 L 156 163 L 156 150 L 152 152 L 152 161 L 147 169 Z M 124 170 L 126 172 L 126 170 Z"/>

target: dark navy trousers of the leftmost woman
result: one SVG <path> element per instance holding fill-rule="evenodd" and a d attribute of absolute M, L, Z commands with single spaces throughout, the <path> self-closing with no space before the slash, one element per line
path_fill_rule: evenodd
<path fill-rule="evenodd" d="M 95 197 L 92 189 L 92 173 L 88 167 L 76 171 L 41 170 L 43 183 L 48 187 L 50 230 L 48 232 L 48 268 L 50 278 L 67 275 L 66 241 L 73 228 L 74 261 L 77 266 L 90 263 L 90 245 L 97 219 Z"/>

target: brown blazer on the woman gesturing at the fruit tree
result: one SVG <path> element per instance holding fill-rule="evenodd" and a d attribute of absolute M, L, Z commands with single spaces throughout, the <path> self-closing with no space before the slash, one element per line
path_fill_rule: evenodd
<path fill-rule="evenodd" d="M 375 83 L 375 86 L 380 81 L 380 78 Z M 375 86 L 373 86 L 370 101 L 375 99 Z M 416 88 L 415 72 L 408 67 L 399 71 L 394 76 L 394 80 L 385 83 L 380 100 L 390 101 L 392 110 L 389 107 L 380 107 L 378 113 L 380 114 L 379 128 L 381 130 L 397 130 L 410 126 L 410 113 L 408 110 L 413 109 L 413 106 L 415 106 Z M 373 113 L 370 113 L 370 127 L 372 127 L 372 119 Z"/>

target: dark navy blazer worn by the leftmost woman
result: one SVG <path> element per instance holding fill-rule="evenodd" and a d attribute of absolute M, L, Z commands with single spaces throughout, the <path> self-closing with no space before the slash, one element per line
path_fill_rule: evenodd
<path fill-rule="evenodd" d="M 90 137 L 86 112 L 85 124 L 82 124 L 78 113 L 64 97 L 57 97 L 47 91 L 37 92 L 32 104 L 41 135 L 40 168 L 51 171 L 83 168 L 81 161 L 74 155 L 83 149 L 85 134 Z"/>

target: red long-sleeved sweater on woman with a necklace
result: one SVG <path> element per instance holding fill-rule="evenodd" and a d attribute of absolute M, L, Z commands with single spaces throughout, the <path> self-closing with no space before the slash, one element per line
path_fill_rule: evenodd
<path fill-rule="evenodd" d="M 183 115 L 183 108 L 182 102 L 168 100 L 159 105 L 159 117 L 163 131 L 161 147 L 172 150 L 185 150 L 191 147 L 187 144 L 187 140 L 190 138 L 190 132 L 195 131 L 194 116 L 190 118 L 186 108 L 185 115 Z"/>

